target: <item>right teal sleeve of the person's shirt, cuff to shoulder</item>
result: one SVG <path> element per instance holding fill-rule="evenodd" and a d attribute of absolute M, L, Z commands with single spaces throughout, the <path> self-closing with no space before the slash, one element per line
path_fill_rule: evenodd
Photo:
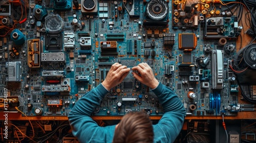
<path fill-rule="evenodd" d="M 186 111 L 177 94 L 172 89 L 159 83 L 152 90 L 163 107 L 164 114 L 157 125 L 154 125 L 155 142 L 174 142 L 181 131 Z"/>

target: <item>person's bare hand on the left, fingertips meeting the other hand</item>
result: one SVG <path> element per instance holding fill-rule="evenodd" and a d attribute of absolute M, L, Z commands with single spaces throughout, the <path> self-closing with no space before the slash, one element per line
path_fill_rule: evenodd
<path fill-rule="evenodd" d="M 106 75 L 105 80 L 101 83 L 106 89 L 110 90 L 111 88 L 117 86 L 123 81 L 123 79 L 129 74 L 131 69 L 127 68 L 125 65 L 119 63 L 114 63 L 108 75 Z"/>

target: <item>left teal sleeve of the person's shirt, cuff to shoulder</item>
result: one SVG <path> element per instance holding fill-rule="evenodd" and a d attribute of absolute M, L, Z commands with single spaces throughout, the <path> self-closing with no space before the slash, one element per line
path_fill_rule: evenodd
<path fill-rule="evenodd" d="M 104 98 L 106 90 L 102 84 L 85 94 L 68 115 L 72 133 L 79 142 L 108 142 L 113 140 L 115 126 L 99 127 L 90 115 Z M 112 134 L 109 134 L 112 132 Z"/>

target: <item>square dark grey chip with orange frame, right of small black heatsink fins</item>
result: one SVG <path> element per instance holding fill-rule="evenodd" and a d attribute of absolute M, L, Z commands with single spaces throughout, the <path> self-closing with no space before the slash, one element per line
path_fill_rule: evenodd
<path fill-rule="evenodd" d="M 181 33 L 179 34 L 179 49 L 184 51 L 192 51 L 196 49 L 197 37 L 194 33 Z"/>

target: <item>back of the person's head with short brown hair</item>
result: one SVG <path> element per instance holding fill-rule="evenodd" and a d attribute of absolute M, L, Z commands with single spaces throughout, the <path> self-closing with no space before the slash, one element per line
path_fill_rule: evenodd
<path fill-rule="evenodd" d="M 150 118 L 144 112 L 130 112 L 116 126 L 113 143 L 150 143 L 154 132 Z"/>

